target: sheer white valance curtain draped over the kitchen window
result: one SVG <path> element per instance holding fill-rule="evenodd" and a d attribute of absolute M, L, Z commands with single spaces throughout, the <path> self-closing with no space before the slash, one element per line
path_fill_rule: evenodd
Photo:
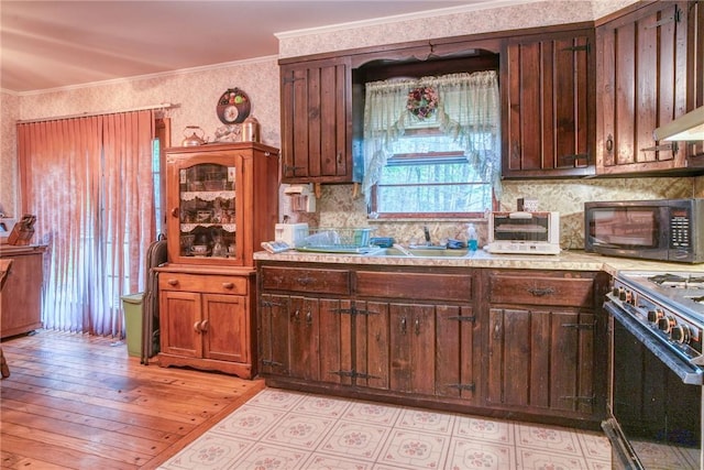
<path fill-rule="evenodd" d="M 367 204 L 392 155 L 391 144 L 422 119 L 411 112 L 409 92 L 426 87 L 437 96 L 432 119 L 439 129 L 464 149 L 468 161 L 501 197 L 501 98 L 497 74 L 487 70 L 365 84 L 362 192 Z"/>

